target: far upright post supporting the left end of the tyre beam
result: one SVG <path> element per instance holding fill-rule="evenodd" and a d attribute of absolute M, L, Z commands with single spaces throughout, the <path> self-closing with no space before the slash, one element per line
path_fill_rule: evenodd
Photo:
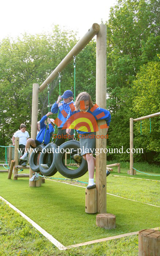
<path fill-rule="evenodd" d="M 33 96 L 32 96 L 32 115 L 31 115 L 31 138 L 36 139 L 37 136 L 37 120 L 38 120 L 38 91 L 39 85 L 37 83 L 33 84 Z M 30 153 L 31 154 L 31 153 Z M 33 176 L 33 171 L 29 169 L 29 177 Z M 30 187 L 36 186 L 36 181 L 29 181 Z M 41 186 L 41 184 L 40 184 Z"/>

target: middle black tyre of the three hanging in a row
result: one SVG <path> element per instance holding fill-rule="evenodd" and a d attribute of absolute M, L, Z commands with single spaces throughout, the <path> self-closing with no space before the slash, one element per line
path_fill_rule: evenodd
<path fill-rule="evenodd" d="M 56 148 L 58 148 L 58 146 L 55 143 L 49 143 L 45 146 L 46 153 L 45 152 L 41 153 L 40 160 L 39 160 L 39 169 L 40 169 L 40 172 L 45 176 L 53 176 L 57 172 L 57 169 L 55 166 L 55 155 L 56 155 L 55 150 L 56 150 Z M 51 153 L 48 153 L 48 151 L 50 152 L 50 149 L 51 149 Z M 53 151 L 52 151 L 52 149 L 53 149 Z M 52 164 L 48 169 L 44 169 L 41 166 L 41 163 L 47 164 L 49 156 L 51 156 Z"/>

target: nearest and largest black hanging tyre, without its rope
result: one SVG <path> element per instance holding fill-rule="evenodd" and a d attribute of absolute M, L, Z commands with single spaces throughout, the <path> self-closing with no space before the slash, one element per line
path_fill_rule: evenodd
<path fill-rule="evenodd" d="M 59 147 L 59 153 L 55 154 L 55 164 L 60 174 L 62 174 L 64 177 L 75 179 L 83 176 L 87 172 L 88 164 L 83 157 L 81 157 L 81 163 L 79 164 L 74 160 L 72 161 L 72 158 L 70 157 L 72 154 L 66 154 L 66 151 L 71 152 L 71 148 L 72 153 L 77 152 L 77 149 L 80 148 L 80 142 L 71 140 L 63 143 Z"/>

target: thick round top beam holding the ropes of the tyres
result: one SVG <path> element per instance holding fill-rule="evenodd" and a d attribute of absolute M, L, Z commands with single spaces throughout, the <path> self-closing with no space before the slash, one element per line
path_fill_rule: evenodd
<path fill-rule="evenodd" d="M 98 34 L 100 31 L 100 25 L 94 23 L 88 32 L 78 41 L 78 43 L 72 48 L 72 50 L 66 55 L 66 57 L 60 62 L 60 64 L 55 68 L 55 70 L 47 77 L 47 79 L 39 87 L 39 91 L 43 91 L 48 83 L 51 83 L 58 72 L 61 72 L 70 62 L 73 61 L 73 56 L 77 55 L 82 51 L 82 49 L 92 40 L 92 38 Z"/>

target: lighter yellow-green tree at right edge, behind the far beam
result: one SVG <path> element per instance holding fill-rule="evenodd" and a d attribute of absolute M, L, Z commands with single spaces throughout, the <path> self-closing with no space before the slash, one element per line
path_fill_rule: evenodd
<path fill-rule="evenodd" d="M 133 100 L 133 109 L 137 113 L 137 117 L 150 115 L 159 112 L 160 109 L 160 62 L 149 62 L 141 66 L 137 73 L 136 80 L 134 80 L 135 96 Z M 160 160 L 160 122 L 159 116 L 150 119 L 151 133 L 149 119 L 142 120 L 142 136 L 140 121 L 135 123 L 135 139 L 136 146 L 141 145 L 145 149 L 144 156 L 146 161 Z"/>

